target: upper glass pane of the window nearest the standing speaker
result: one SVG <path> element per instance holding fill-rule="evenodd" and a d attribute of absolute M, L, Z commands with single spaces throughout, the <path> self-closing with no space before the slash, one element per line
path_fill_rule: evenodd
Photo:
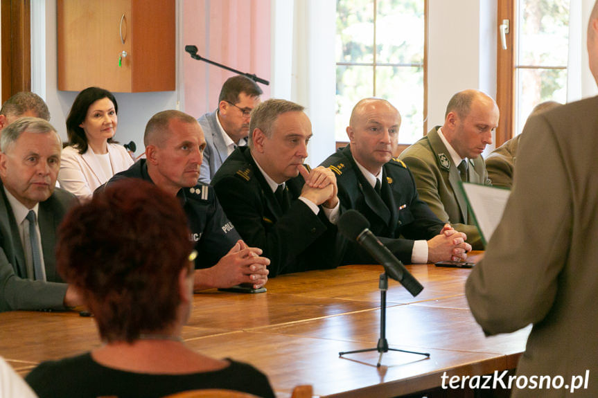
<path fill-rule="evenodd" d="M 518 1 L 518 65 L 567 66 L 569 0 Z"/>

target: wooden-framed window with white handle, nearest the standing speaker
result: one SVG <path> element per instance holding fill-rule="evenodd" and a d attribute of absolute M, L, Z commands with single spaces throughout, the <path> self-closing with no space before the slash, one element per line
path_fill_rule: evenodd
<path fill-rule="evenodd" d="M 515 23 L 498 49 L 497 146 L 521 133 L 540 102 L 567 102 L 569 0 L 500 0 L 504 19 Z"/>

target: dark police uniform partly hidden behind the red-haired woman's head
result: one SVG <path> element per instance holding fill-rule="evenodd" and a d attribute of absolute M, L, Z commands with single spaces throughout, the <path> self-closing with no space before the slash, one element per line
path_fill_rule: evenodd
<path fill-rule="evenodd" d="M 114 175 L 106 185 L 125 178 L 153 182 L 148 174 L 146 159 L 141 159 L 127 170 Z M 187 216 L 188 227 L 191 230 L 190 239 L 195 242 L 198 254 L 195 268 L 209 268 L 226 255 L 241 238 L 218 203 L 213 188 L 208 184 L 198 183 L 193 188 L 182 188 L 177 197 Z"/>

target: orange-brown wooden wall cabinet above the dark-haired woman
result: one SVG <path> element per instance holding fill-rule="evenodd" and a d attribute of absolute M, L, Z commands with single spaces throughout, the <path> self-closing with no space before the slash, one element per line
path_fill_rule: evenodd
<path fill-rule="evenodd" d="M 174 0 L 58 0 L 57 9 L 59 90 L 175 89 Z"/>

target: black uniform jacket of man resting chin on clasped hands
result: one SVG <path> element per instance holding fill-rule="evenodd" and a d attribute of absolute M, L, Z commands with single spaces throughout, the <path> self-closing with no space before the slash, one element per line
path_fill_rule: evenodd
<path fill-rule="evenodd" d="M 245 242 L 262 248 L 263 256 L 270 258 L 270 277 L 337 266 L 336 227 L 324 210 L 315 215 L 297 199 L 305 182 L 301 175 L 285 182 L 285 209 L 257 168 L 249 148 L 238 147 L 211 182 L 222 208 Z"/>

